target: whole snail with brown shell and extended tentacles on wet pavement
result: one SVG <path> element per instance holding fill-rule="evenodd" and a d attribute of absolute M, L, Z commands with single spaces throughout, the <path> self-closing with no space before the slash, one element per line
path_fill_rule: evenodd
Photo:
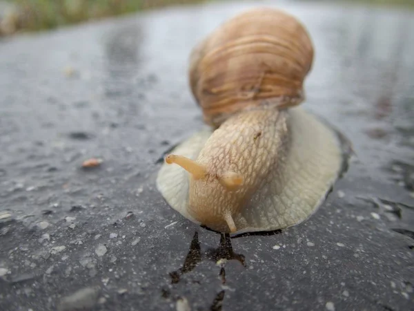
<path fill-rule="evenodd" d="M 307 113 L 313 44 L 295 17 L 255 8 L 190 55 L 190 88 L 208 129 L 182 142 L 157 176 L 168 204 L 222 233 L 297 225 L 322 204 L 347 159 L 342 135 Z"/>

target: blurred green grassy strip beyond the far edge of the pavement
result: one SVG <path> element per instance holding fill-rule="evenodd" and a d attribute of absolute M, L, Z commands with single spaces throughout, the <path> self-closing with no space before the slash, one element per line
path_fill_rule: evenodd
<path fill-rule="evenodd" d="M 164 6 L 213 1 L 219 0 L 0 0 L 0 36 L 52 29 Z M 414 8 L 414 0 L 319 0 L 319 2 Z"/>

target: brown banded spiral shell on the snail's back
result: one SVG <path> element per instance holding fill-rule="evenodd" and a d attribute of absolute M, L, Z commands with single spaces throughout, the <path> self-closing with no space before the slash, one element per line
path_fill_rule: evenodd
<path fill-rule="evenodd" d="M 295 106 L 304 100 L 313 45 L 295 17 L 249 10 L 222 24 L 190 56 L 190 87 L 204 120 L 219 126 L 255 106 Z"/>

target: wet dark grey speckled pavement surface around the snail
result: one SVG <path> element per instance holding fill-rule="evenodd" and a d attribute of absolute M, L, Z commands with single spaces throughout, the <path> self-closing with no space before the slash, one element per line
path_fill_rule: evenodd
<path fill-rule="evenodd" d="M 306 223 L 229 238 L 155 189 L 160 156 L 204 126 L 190 49 L 248 6 L 0 41 L 0 310 L 412 308 L 411 12 L 282 6 L 315 44 L 304 106 L 357 155 Z"/>

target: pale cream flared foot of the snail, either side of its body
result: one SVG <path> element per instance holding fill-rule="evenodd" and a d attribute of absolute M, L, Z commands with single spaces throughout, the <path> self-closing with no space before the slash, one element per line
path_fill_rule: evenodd
<path fill-rule="evenodd" d="M 344 152 L 337 133 L 301 107 L 289 109 L 290 149 L 282 165 L 235 216 L 237 232 L 285 229 L 302 223 L 324 202 L 342 172 Z M 179 144 L 172 152 L 195 160 L 212 131 L 206 129 Z M 157 188 L 168 204 L 198 223 L 187 211 L 188 173 L 163 164 Z"/>

